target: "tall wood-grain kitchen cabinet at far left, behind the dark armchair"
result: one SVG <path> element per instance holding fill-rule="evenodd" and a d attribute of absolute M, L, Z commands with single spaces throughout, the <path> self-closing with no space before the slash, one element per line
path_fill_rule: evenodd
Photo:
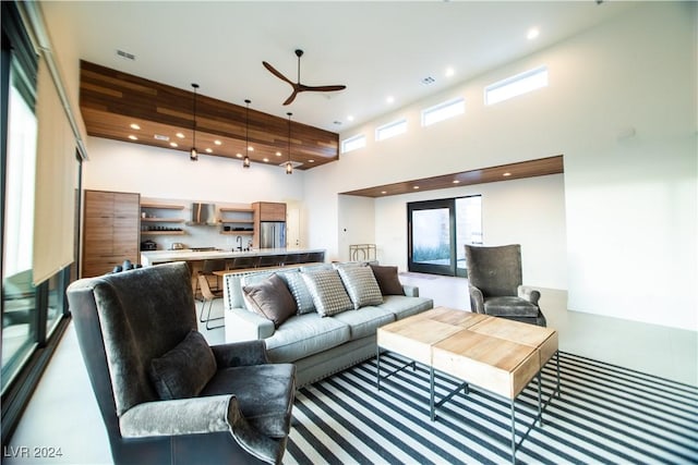
<path fill-rule="evenodd" d="M 123 260 L 139 262 L 141 195 L 85 191 L 83 277 L 105 274 Z"/>

